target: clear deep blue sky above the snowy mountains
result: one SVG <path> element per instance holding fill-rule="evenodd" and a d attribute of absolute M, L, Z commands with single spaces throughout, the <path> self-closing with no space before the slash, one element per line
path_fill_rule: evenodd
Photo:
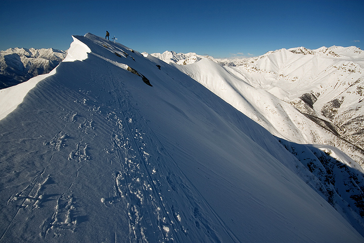
<path fill-rule="evenodd" d="M 0 1 L 0 50 L 67 50 L 71 35 L 106 30 L 148 53 L 221 58 L 301 46 L 364 49 L 364 0 Z"/>

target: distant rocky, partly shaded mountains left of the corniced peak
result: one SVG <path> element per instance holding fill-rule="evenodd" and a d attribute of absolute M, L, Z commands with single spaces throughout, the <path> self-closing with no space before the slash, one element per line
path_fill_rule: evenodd
<path fill-rule="evenodd" d="M 0 51 L 0 89 L 8 88 L 39 74 L 49 73 L 65 57 L 65 51 L 10 48 Z"/>

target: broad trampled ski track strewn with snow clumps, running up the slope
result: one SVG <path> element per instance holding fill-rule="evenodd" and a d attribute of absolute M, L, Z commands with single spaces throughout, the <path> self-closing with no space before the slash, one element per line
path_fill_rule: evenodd
<path fill-rule="evenodd" d="M 116 151 L 120 170 L 113 174 L 114 191 L 102 202 L 106 207 L 117 203 L 127 207 L 130 242 L 194 241 L 196 235 L 200 235 L 199 241 L 221 242 L 214 230 L 216 219 L 207 217 L 209 206 L 186 178 L 169 169 L 181 173 L 160 142 L 149 138 L 151 131 L 131 104 L 127 91 L 117 85 L 121 83 L 112 73 L 111 78 L 111 95 L 121 112 L 107 114 L 113 127 L 113 148 L 108 150 Z M 170 204 L 167 197 L 180 200 Z M 225 231 L 232 241 L 239 241 L 229 229 Z"/>

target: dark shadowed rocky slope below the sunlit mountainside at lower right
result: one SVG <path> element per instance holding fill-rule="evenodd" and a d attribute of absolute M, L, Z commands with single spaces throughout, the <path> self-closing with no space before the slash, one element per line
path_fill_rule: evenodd
<path fill-rule="evenodd" d="M 330 152 L 281 138 L 278 141 L 311 173 L 310 176 L 306 176 L 307 185 L 319 192 L 339 213 L 345 212 L 349 222 L 353 223 L 357 230 L 363 232 L 363 174 L 351 168 L 350 165 L 335 159 Z M 302 170 L 299 167 L 296 168 Z"/>

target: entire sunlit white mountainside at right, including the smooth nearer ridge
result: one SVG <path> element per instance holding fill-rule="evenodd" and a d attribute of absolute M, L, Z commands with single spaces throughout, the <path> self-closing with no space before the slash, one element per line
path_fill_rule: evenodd
<path fill-rule="evenodd" d="M 213 61 L 177 68 L 272 134 L 336 146 L 364 165 L 363 51 L 300 47 Z"/>

